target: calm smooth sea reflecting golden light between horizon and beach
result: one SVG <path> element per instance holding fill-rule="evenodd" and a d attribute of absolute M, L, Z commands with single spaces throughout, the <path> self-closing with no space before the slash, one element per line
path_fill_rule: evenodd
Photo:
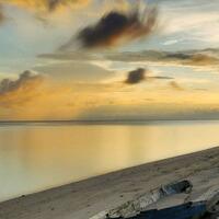
<path fill-rule="evenodd" d="M 0 126 L 0 200 L 219 146 L 219 122 Z"/>

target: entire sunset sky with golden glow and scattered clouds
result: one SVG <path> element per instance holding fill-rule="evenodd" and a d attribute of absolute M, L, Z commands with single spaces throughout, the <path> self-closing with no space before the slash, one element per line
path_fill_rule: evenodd
<path fill-rule="evenodd" d="M 218 0 L 0 0 L 0 120 L 219 117 Z"/>

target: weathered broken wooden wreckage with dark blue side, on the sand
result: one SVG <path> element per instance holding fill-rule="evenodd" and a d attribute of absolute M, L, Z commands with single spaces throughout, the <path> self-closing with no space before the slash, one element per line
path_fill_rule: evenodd
<path fill-rule="evenodd" d="M 189 181 L 171 183 L 150 191 L 112 210 L 104 210 L 90 219 L 218 219 L 219 185 L 210 187 L 193 201 L 173 205 L 168 208 L 150 209 L 151 204 L 181 193 L 191 193 Z"/>

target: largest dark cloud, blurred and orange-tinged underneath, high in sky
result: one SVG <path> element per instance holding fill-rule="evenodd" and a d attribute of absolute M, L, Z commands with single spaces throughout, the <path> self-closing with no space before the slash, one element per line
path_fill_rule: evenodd
<path fill-rule="evenodd" d="M 157 8 L 147 8 L 143 12 L 139 8 L 125 12 L 114 10 L 102 16 L 96 24 L 82 28 L 60 49 L 68 49 L 77 41 L 82 48 L 113 47 L 129 43 L 151 34 L 157 21 Z"/>

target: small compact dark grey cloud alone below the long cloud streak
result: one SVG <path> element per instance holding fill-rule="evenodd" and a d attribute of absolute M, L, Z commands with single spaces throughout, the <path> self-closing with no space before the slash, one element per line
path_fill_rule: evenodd
<path fill-rule="evenodd" d="M 140 83 L 146 79 L 146 73 L 147 70 L 143 68 L 138 68 L 136 70 L 129 71 L 125 82 L 128 84 Z"/>

